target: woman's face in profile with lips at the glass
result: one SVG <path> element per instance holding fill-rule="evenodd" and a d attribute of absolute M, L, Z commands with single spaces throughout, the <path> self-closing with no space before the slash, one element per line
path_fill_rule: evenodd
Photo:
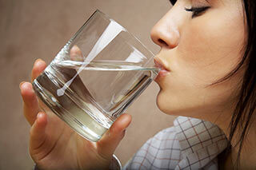
<path fill-rule="evenodd" d="M 166 69 L 155 80 L 160 86 L 159 109 L 208 121 L 216 113 L 230 112 L 243 70 L 212 84 L 242 58 L 246 41 L 243 14 L 242 0 L 175 2 L 151 31 L 151 38 L 161 46 L 156 65 Z"/>

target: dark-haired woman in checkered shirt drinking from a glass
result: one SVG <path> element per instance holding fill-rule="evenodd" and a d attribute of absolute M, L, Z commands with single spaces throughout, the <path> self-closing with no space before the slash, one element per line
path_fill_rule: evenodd
<path fill-rule="evenodd" d="M 183 117 L 148 140 L 124 168 L 256 168 L 254 0 L 170 2 L 174 6 L 151 32 L 161 47 L 155 57 L 162 67 L 155 80 L 157 104 Z M 32 79 L 45 68 L 37 60 Z M 32 125 L 30 155 L 39 169 L 107 169 L 117 163 L 113 153 L 130 124 L 128 114 L 94 144 L 41 112 L 29 82 L 20 88 Z"/>

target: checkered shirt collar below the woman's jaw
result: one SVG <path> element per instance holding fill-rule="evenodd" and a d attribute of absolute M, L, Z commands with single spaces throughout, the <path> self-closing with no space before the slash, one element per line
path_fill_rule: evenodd
<path fill-rule="evenodd" d="M 208 164 L 227 146 L 227 139 L 217 125 L 190 117 L 178 117 L 174 128 L 182 152 L 182 164 L 198 162 L 199 167 Z M 185 160 L 184 160 L 185 159 Z M 206 161 L 207 160 L 207 161 Z M 180 165 L 182 166 L 182 165 Z"/>

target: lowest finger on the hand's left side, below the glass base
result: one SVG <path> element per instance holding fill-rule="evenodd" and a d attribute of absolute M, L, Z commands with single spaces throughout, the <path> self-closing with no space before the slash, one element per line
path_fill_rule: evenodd
<path fill-rule="evenodd" d="M 46 142 L 46 113 L 38 113 L 34 125 L 30 128 L 30 153 L 38 153 L 38 149 Z"/>

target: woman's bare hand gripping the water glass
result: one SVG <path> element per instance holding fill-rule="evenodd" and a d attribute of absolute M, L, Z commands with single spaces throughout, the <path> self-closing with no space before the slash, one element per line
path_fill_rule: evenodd
<path fill-rule="evenodd" d="M 73 52 L 79 54 L 75 48 Z M 31 81 L 45 68 L 44 61 L 35 61 Z M 23 113 L 31 125 L 30 156 L 39 169 L 108 169 L 114 150 L 130 124 L 130 115 L 118 117 L 102 139 L 94 143 L 79 136 L 56 115 L 42 112 L 30 82 L 22 82 L 20 89 Z"/>

